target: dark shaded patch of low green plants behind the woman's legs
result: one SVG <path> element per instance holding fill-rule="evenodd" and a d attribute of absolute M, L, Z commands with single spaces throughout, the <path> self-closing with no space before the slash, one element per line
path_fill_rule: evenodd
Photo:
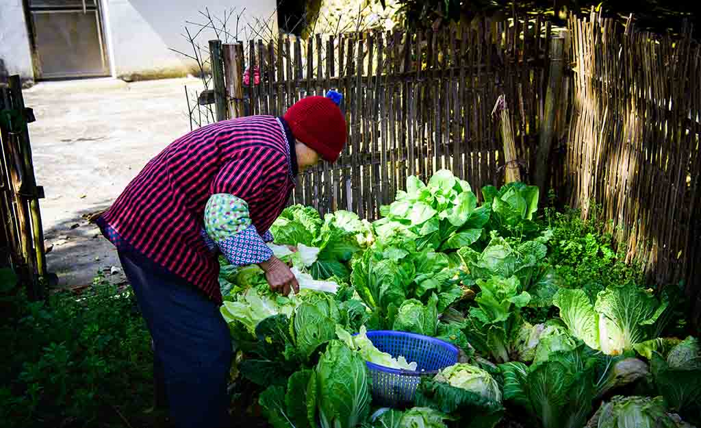
<path fill-rule="evenodd" d="M 130 289 L 98 276 L 79 296 L 28 302 L 20 292 L 0 305 L 4 426 L 125 427 L 156 417 L 144 414 L 153 401 L 153 354 Z"/>

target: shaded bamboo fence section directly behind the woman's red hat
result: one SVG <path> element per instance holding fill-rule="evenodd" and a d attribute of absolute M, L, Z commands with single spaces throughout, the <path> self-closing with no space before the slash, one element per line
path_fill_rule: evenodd
<path fill-rule="evenodd" d="M 229 112 L 280 115 L 304 96 L 343 93 L 348 143 L 339 161 L 300 176 L 290 203 L 378 218 L 407 175 L 427 179 L 449 168 L 477 194 L 501 181 L 501 128 L 491 119 L 499 95 L 513 106 L 517 155 L 528 167 L 543 116 L 549 41 L 550 24 L 538 17 L 224 45 Z M 229 76 L 243 75 L 244 54 L 249 69 L 260 67 L 261 82 L 240 88 L 240 77 Z"/>

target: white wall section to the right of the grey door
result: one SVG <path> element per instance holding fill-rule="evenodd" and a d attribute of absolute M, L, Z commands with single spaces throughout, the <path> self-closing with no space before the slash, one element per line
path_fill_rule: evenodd
<path fill-rule="evenodd" d="M 2 0 L 0 0 L 2 1 Z M 19 0 L 18 0 L 19 1 Z M 105 18 L 105 32 L 110 52 L 113 74 L 116 76 L 172 76 L 182 75 L 193 70 L 193 62 L 182 55 L 169 51 L 174 48 L 192 53 L 189 41 L 181 36 L 186 20 L 205 22 L 198 13 L 209 8 L 210 13 L 224 18 L 224 11 L 237 11 L 245 8 L 239 28 L 246 27 L 246 20 L 254 22 L 268 20 L 277 31 L 275 0 L 102 0 Z M 236 13 L 229 20 L 230 31 L 236 26 Z M 188 25 L 190 31 L 196 26 Z M 198 36 L 198 41 L 206 49 L 207 41 L 215 39 L 215 34 L 207 30 Z M 223 39 L 223 38 L 222 38 Z"/>

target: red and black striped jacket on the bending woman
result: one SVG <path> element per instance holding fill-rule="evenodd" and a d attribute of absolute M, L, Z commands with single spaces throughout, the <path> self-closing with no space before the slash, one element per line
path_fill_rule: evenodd
<path fill-rule="evenodd" d="M 290 128 L 282 118 L 212 123 L 165 147 L 98 220 L 102 234 L 221 303 L 219 262 L 203 232 L 212 194 L 248 203 L 261 233 L 287 204 L 297 177 Z"/>

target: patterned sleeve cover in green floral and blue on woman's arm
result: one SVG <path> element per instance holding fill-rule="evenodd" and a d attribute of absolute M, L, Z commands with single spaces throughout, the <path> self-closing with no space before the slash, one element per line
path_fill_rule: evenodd
<path fill-rule="evenodd" d="M 205 207 L 205 231 L 234 266 L 265 262 L 273 256 L 266 242 L 270 231 L 259 234 L 252 224 L 248 204 L 233 194 L 213 194 Z"/>

